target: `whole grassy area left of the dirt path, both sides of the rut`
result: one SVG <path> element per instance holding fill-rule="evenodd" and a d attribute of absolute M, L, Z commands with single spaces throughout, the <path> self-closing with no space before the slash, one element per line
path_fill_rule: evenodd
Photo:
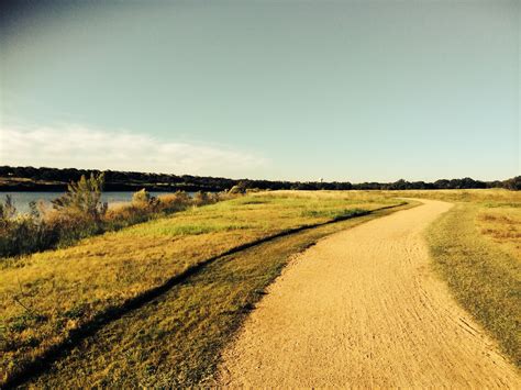
<path fill-rule="evenodd" d="M 110 320 L 115 312 L 121 313 L 118 308 L 145 297 L 208 258 L 291 229 L 363 215 L 397 203 L 399 201 L 388 197 L 363 191 L 251 194 L 85 239 L 66 249 L 5 260 L 0 269 L 2 380 L 23 372 L 31 361 L 37 361 L 49 350 L 62 349 L 67 339 L 77 335 L 78 330 L 88 328 L 89 324 L 106 321 L 109 324 L 102 330 L 106 332 L 112 326 L 107 319 Z M 390 211 L 379 214 L 384 212 Z M 220 341 L 224 342 L 237 326 L 237 310 L 244 311 L 255 302 L 291 253 L 336 229 L 379 214 L 301 232 L 295 237 L 277 238 L 273 243 L 280 244 L 270 247 L 271 252 L 268 247 L 262 250 L 251 248 L 251 257 L 230 256 L 210 264 L 203 269 L 210 274 L 197 274 L 168 291 L 170 298 L 171 294 L 181 294 L 181 290 L 185 296 L 167 299 L 165 312 L 154 303 L 147 303 L 146 310 L 157 314 L 151 316 L 140 310 L 137 315 L 143 323 L 134 326 L 132 322 L 125 323 L 125 316 L 113 322 L 120 324 L 114 325 L 117 333 L 131 338 L 119 341 L 110 333 L 106 346 L 117 348 L 109 354 L 114 357 L 103 355 L 97 348 L 92 361 L 85 357 L 81 369 L 93 365 L 92 380 L 99 385 L 103 380 L 118 382 L 126 377 L 128 385 L 158 383 L 160 378 L 153 376 L 159 372 L 163 361 L 168 365 L 177 361 L 175 365 L 178 367 L 173 368 L 174 374 L 167 376 L 168 380 L 176 377 L 180 378 L 177 380 L 179 383 L 195 383 L 195 379 L 203 377 L 204 367 L 211 366 L 208 361 L 214 358 Z M 218 268 L 212 271 L 212 267 Z M 215 294 L 215 300 L 212 294 Z M 118 326 L 121 326 L 119 331 Z M 95 336 L 103 337 L 103 332 Z M 176 338 L 182 334 L 186 334 L 185 338 Z M 152 353 L 157 343 L 173 344 Z M 142 346 L 134 347 L 137 344 Z M 129 359 L 126 364 L 120 359 L 121 354 Z M 146 357 L 147 354 L 151 356 Z M 74 359 L 75 355 L 70 356 Z M 70 367 L 73 369 L 74 365 Z M 109 375 L 109 367 L 121 367 L 115 371 L 121 370 L 123 379 Z M 76 368 L 67 372 L 81 377 Z M 66 377 L 64 374 L 64 381 L 59 379 L 58 382 L 66 383 Z"/>

